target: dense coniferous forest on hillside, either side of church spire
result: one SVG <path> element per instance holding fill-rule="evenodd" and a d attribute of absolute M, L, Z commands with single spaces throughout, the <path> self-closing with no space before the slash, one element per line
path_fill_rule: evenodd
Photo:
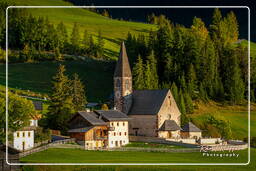
<path fill-rule="evenodd" d="M 1 9 L 6 6 L 2 3 Z M 239 43 L 239 23 L 232 11 L 222 16 L 215 9 L 209 27 L 197 17 L 189 28 L 173 24 L 164 15 L 152 14 L 147 20 L 157 29 L 139 35 L 128 33 L 125 40 L 135 89 L 169 88 L 183 113 L 193 113 L 197 99 L 246 102 L 248 49 Z M 5 23 L 0 25 L 3 49 Z M 65 23 L 54 25 L 47 17 L 34 17 L 26 9 L 10 10 L 8 28 L 9 62 L 69 60 L 63 54 L 108 60 L 101 30 L 92 36 L 74 23 L 69 35 Z M 251 100 L 255 101 L 255 81 L 251 86 Z"/>

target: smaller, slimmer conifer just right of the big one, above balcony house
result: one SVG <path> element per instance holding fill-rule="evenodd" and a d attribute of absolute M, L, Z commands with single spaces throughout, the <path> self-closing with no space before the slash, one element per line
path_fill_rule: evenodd
<path fill-rule="evenodd" d="M 87 103 L 85 96 L 85 88 L 82 82 L 80 81 L 77 74 L 73 75 L 73 80 L 70 84 L 70 96 L 72 97 L 72 103 L 76 111 L 83 110 L 85 104 Z"/>

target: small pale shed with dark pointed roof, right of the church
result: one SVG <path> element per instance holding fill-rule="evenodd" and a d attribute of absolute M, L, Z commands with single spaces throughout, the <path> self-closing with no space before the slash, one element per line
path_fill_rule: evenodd
<path fill-rule="evenodd" d="M 198 139 L 202 137 L 202 131 L 193 123 L 189 122 L 182 127 L 181 137 Z"/>

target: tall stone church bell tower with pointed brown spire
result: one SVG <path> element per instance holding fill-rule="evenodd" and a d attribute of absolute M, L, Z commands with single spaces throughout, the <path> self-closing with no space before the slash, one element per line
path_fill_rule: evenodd
<path fill-rule="evenodd" d="M 132 73 L 124 42 L 114 73 L 114 106 L 124 113 L 129 112 L 132 100 Z"/>

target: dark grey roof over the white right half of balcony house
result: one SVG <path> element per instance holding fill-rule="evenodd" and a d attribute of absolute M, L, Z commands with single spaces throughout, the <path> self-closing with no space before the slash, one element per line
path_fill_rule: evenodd
<path fill-rule="evenodd" d="M 98 117 L 102 116 L 108 121 L 123 121 L 130 119 L 126 114 L 118 110 L 95 110 L 95 112 L 99 115 Z"/>

